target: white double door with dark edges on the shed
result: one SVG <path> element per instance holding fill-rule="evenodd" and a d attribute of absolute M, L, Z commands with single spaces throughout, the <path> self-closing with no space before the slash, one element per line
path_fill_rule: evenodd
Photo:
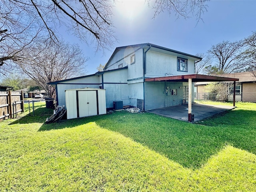
<path fill-rule="evenodd" d="M 78 91 L 78 117 L 86 117 L 96 114 L 96 91 Z"/>

